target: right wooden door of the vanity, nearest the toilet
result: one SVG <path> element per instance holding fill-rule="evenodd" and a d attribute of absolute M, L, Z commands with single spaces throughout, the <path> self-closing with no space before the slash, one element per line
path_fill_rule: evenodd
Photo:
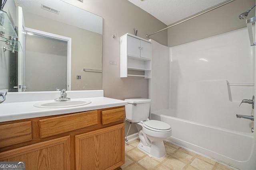
<path fill-rule="evenodd" d="M 76 135 L 76 170 L 113 170 L 124 164 L 124 123 Z"/>

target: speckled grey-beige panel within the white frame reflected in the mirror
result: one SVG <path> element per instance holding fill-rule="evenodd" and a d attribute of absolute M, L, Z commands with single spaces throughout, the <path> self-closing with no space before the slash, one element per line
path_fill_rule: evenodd
<path fill-rule="evenodd" d="M 68 41 L 26 31 L 26 91 L 68 90 Z"/>

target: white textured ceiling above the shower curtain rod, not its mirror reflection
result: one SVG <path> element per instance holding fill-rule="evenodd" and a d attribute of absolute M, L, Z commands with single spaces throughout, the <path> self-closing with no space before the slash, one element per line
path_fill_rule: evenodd
<path fill-rule="evenodd" d="M 166 25 L 175 23 L 226 0 L 128 0 Z"/>

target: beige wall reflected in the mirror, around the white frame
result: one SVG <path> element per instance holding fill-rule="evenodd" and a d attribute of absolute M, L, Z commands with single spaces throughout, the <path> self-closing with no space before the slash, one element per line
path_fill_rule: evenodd
<path fill-rule="evenodd" d="M 83 71 L 83 68 L 97 70 L 102 68 L 101 34 L 49 20 L 28 12 L 23 12 L 23 14 L 26 27 L 72 38 L 71 90 L 102 89 L 102 73 Z M 38 20 L 40 22 L 36 22 Z M 81 79 L 77 80 L 76 76 L 81 76 Z"/>

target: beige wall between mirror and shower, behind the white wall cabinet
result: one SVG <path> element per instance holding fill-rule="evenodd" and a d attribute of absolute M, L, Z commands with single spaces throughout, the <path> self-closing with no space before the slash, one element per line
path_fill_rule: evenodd
<path fill-rule="evenodd" d="M 128 0 L 74 0 L 65 1 L 103 18 L 102 89 L 104 96 L 124 100 L 148 98 L 148 79 L 141 77 L 120 78 L 120 37 L 126 33 L 146 39 L 146 34 L 167 27 Z M 112 35 L 116 33 L 114 39 Z M 167 45 L 167 31 L 156 36 L 156 41 Z M 116 65 L 110 64 L 115 61 Z"/>

